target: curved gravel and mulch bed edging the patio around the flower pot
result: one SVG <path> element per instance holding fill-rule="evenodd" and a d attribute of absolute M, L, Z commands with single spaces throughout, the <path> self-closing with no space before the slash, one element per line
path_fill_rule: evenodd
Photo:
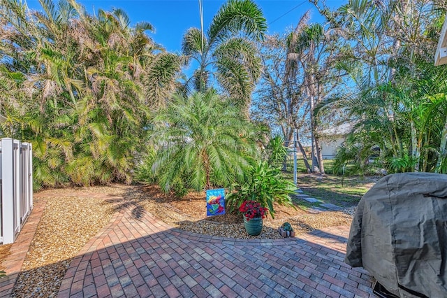
<path fill-rule="evenodd" d="M 352 216 L 341 211 L 323 211 L 322 209 L 323 212 L 312 214 L 300 208 L 294 209 L 275 204 L 274 208 L 277 211 L 275 218 L 268 215 L 268 218 L 263 220 L 263 232 L 258 236 L 249 236 L 245 232 L 242 215 L 238 213 L 206 218 L 204 194 L 191 194 L 191 197 L 172 201 L 166 197 L 153 197 L 153 192 L 153 189 L 135 190 L 133 194 L 135 205 L 142 204 L 145 211 L 173 227 L 211 236 L 237 239 L 281 239 L 278 227 L 284 222 L 290 222 L 298 236 L 323 227 L 350 225 L 352 221 Z M 179 209 L 184 209 L 184 211 Z"/>

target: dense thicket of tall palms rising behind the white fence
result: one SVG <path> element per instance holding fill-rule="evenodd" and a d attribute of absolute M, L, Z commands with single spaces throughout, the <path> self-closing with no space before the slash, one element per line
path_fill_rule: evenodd
<path fill-rule="evenodd" d="M 149 111 L 174 90 L 179 57 L 122 10 L 96 17 L 73 0 L 41 5 L 0 2 L 3 133 L 33 143 L 41 185 L 130 182 Z"/>

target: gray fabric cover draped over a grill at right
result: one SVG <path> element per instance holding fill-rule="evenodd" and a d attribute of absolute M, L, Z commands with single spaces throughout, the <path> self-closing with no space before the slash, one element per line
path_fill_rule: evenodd
<path fill-rule="evenodd" d="M 345 262 L 400 297 L 447 297 L 447 175 L 381 178 L 358 204 Z"/>

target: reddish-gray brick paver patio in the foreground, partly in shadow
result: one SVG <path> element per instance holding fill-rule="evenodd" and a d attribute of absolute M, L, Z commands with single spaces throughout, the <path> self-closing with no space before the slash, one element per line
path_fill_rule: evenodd
<path fill-rule="evenodd" d="M 71 262 L 58 297 L 375 297 L 367 271 L 343 262 L 348 234 L 230 239 L 123 211 Z"/>

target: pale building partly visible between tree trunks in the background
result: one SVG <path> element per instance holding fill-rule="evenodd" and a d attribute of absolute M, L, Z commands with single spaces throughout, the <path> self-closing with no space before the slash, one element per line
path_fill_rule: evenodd
<path fill-rule="evenodd" d="M 335 159 L 337 150 L 353 129 L 352 123 L 344 123 L 336 127 L 324 129 L 320 133 L 321 155 L 323 159 Z"/>

